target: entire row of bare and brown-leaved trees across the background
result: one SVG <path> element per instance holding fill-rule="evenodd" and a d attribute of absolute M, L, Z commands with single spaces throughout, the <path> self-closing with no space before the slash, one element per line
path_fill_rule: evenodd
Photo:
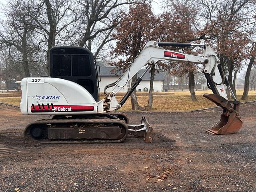
<path fill-rule="evenodd" d="M 2 6 L 0 24 L 0 78 L 21 79 L 49 74 L 53 46 L 84 46 L 96 60 L 125 69 L 149 40 L 208 42 L 218 53 L 222 68 L 236 94 L 236 75 L 247 68 L 242 99 L 246 99 L 255 66 L 256 0 L 164 0 L 155 14 L 145 0 L 14 0 Z M 200 54 L 200 50 L 178 48 Z M 120 57 L 121 56 L 121 57 Z M 122 58 L 122 59 L 121 59 Z M 187 75 L 191 98 L 201 66 L 158 62 L 151 66 L 147 106 L 139 106 L 136 92 L 132 108 L 152 107 L 154 74 L 160 70 Z M 136 80 L 132 78 L 132 83 Z"/>

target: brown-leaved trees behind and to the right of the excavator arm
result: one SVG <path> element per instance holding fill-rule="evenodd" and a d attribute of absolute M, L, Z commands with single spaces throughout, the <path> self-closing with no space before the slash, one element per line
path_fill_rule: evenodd
<path fill-rule="evenodd" d="M 245 88 L 242 99 L 246 99 L 252 66 L 255 66 L 255 0 L 166 0 L 162 4 L 162 14 L 155 15 L 150 4 L 130 6 L 124 20 L 116 28 L 114 37 L 116 47 L 112 54 L 122 55 L 113 65 L 126 68 L 149 40 L 162 42 L 204 41 L 210 43 L 220 58 L 222 69 L 228 77 L 230 87 L 236 95 L 236 75 L 247 67 Z M 178 48 L 180 52 L 200 54 L 200 50 Z M 168 70 L 176 76 L 188 75 L 192 101 L 197 101 L 194 92 L 195 74 L 202 71 L 202 66 L 186 62 L 158 62 L 151 66 L 154 70 Z M 136 76 L 132 79 L 132 83 Z M 152 79 L 150 88 L 152 86 Z M 228 90 L 227 90 L 228 92 Z M 228 96 L 230 93 L 228 92 Z M 133 109 L 143 110 L 152 106 L 152 90 L 148 105 L 141 107 L 132 95 Z"/>

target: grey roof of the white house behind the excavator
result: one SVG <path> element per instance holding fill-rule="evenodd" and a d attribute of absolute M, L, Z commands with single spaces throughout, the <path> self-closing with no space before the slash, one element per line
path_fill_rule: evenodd
<path fill-rule="evenodd" d="M 138 77 L 140 77 L 144 71 L 145 69 L 139 70 Z M 122 70 L 119 70 L 116 67 L 100 66 L 100 76 L 121 76 L 122 74 Z M 148 70 L 142 77 L 142 80 L 150 80 L 150 75 L 150 70 Z M 164 72 L 160 71 L 159 73 L 156 73 L 154 80 L 164 80 Z"/>

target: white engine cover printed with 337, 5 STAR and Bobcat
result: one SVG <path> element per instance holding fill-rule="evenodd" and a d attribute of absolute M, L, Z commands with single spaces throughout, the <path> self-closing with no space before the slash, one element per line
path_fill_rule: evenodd
<path fill-rule="evenodd" d="M 24 115 L 71 115 L 103 112 L 82 86 L 60 78 L 24 78 L 21 81 L 20 111 Z"/>

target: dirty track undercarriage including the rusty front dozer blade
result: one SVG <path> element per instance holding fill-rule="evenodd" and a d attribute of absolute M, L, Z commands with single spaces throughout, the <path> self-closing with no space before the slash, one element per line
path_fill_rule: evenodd
<path fill-rule="evenodd" d="M 145 117 L 140 125 L 129 125 L 122 113 L 105 113 L 78 116 L 53 116 L 28 124 L 24 137 L 29 142 L 58 143 L 108 143 L 122 142 L 128 134 L 144 137 L 151 142 L 152 127 Z"/>

